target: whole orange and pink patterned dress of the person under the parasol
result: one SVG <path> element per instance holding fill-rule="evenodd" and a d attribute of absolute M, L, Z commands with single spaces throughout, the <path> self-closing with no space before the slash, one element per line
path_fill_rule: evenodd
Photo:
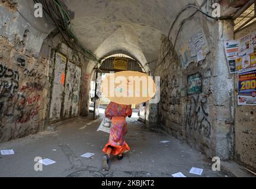
<path fill-rule="evenodd" d="M 105 116 L 111 119 L 112 122 L 110 138 L 103 149 L 105 154 L 110 146 L 113 147 L 111 152 L 113 155 L 123 154 L 130 150 L 130 147 L 124 141 L 124 136 L 127 133 L 126 117 L 130 115 L 132 115 L 132 105 L 119 105 L 110 102 L 107 109 L 105 109 Z"/>

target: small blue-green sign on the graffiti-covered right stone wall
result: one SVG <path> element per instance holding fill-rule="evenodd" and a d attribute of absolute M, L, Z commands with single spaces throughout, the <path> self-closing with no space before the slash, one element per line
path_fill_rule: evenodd
<path fill-rule="evenodd" d="M 200 73 L 188 76 L 188 94 L 198 94 L 202 92 L 202 76 Z"/>

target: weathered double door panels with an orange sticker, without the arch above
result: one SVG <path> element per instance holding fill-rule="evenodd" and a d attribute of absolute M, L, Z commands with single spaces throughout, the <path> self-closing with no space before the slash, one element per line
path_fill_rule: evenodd
<path fill-rule="evenodd" d="M 56 53 L 50 120 L 78 116 L 81 68 Z"/>

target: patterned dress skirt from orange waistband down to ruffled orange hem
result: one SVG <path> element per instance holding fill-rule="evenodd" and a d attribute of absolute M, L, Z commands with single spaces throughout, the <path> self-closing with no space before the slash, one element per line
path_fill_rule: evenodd
<path fill-rule="evenodd" d="M 119 155 L 130 150 L 130 147 L 124 141 L 127 133 L 127 123 L 124 117 L 113 117 L 110 129 L 110 138 L 105 145 L 103 152 L 107 153 L 108 147 L 113 147 L 111 154 Z"/>

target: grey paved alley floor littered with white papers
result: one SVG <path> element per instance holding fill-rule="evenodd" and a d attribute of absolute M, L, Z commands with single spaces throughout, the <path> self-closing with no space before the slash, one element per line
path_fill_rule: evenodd
<path fill-rule="evenodd" d="M 200 177 L 189 173 L 191 167 L 203 168 L 202 177 L 234 177 L 225 171 L 212 171 L 213 162 L 199 151 L 167 133 L 148 131 L 136 118 L 130 118 L 126 136 L 132 150 L 121 162 L 111 159 L 111 170 L 104 171 L 101 150 L 108 135 L 96 132 L 99 123 L 76 119 L 56 131 L 1 144 L 1 149 L 14 149 L 15 155 L 1 158 L 0 177 L 171 177 L 175 172 Z M 164 140 L 169 142 L 162 144 Z M 81 157 L 85 152 L 95 155 Z M 35 157 L 49 158 L 56 164 L 35 172 Z"/>

